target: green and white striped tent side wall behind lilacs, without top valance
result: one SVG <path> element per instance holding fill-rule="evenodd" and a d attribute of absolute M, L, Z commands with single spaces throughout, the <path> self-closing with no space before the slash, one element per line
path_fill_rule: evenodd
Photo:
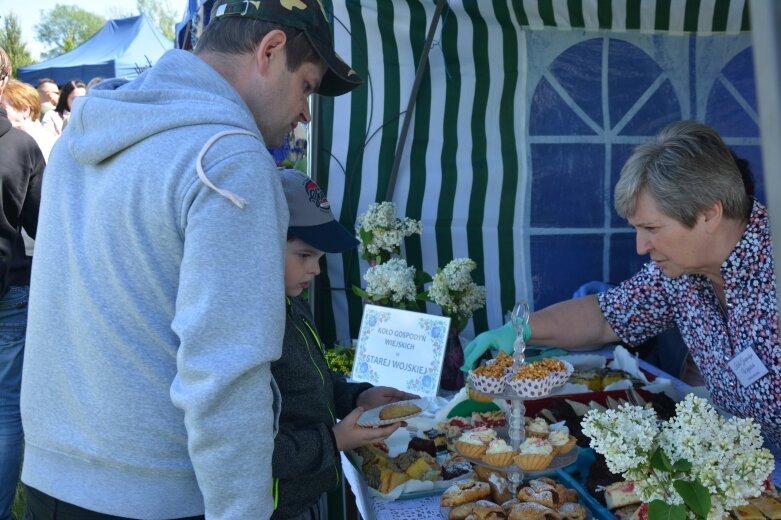
<path fill-rule="evenodd" d="M 322 165 L 320 179 L 327 176 L 329 200 L 341 207 L 346 225 L 385 197 L 434 8 L 434 2 L 334 5 L 336 19 L 352 33 L 350 39 L 337 29 L 338 51 L 356 70 L 368 71 L 364 88 L 324 100 L 320 121 L 332 117 L 333 124 L 323 125 L 322 147 L 313 151 Z M 518 196 L 525 183 L 519 146 L 525 115 L 517 20 L 507 1 L 451 2 L 429 56 L 393 197 L 400 215 L 424 223 L 423 236 L 406 243 L 411 265 L 434 273 L 453 258 L 477 262 L 475 278 L 492 295 L 475 316 L 478 330 L 486 328 L 487 313 L 498 316 L 512 307 L 521 292 L 514 281 L 520 283 L 526 271 L 524 237 L 513 233 L 526 211 L 525 198 Z M 329 149 L 332 157 L 322 153 Z M 357 255 L 345 255 L 342 264 L 329 261 L 328 278 L 334 288 L 349 288 L 362 282 L 366 267 Z M 346 302 L 344 293 L 333 291 L 332 303 L 337 335 L 347 336 L 344 316 L 349 313 L 354 331 L 361 302 Z M 435 306 L 429 310 L 438 312 Z"/>

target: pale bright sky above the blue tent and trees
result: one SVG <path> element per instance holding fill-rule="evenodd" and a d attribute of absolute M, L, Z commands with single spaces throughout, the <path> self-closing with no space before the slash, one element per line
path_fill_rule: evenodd
<path fill-rule="evenodd" d="M 173 10 L 177 22 L 181 20 L 187 7 L 187 0 L 160 1 L 165 2 Z M 5 17 L 9 12 L 16 15 L 22 26 L 22 39 L 36 59 L 40 59 L 41 53 L 46 49 L 36 41 L 34 26 L 41 19 L 42 10 L 48 11 L 58 3 L 76 5 L 106 19 L 118 15 L 138 14 L 134 0 L 0 0 L 0 16 Z"/>

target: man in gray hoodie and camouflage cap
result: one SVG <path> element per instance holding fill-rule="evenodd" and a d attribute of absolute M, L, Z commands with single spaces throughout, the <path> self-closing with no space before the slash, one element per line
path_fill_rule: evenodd
<path fill-rule="evenodd" d="M 266 148 L 360 83 L 318 0 L 228 0 L 195 54 L 76 101 L 32 273 L 28 518 L 271 515 L 288 213 Z"/>

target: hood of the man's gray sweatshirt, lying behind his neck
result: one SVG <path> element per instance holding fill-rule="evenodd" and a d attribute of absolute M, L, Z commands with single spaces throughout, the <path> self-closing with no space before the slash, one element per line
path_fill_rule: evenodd
<path fill-rule="evenodd" d="M 225 110 L 215 96 L 236 110 Z M 136 79 L 104 81 L 77 98 L 67 141 L 77 161 L 97 165 L 152 135 L 204 123 L 233 126 L 262 141 L 236 89 L 194 54 L 171 50 Z"/>

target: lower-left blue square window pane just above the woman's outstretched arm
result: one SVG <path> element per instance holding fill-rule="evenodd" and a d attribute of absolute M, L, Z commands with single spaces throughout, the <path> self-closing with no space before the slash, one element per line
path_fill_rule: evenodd
<path fill-rule="evenodd" d="M 578 287 L 602 280 L 601 235 L 543 235 L 530 241 L 534 308 L 572 298 Z"/>

